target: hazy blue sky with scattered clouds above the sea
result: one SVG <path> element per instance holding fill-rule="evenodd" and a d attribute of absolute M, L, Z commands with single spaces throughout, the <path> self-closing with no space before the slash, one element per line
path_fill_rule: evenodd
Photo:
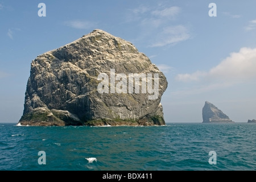
<path fill-rule="evenodd" d="M 203 122 L 205 101 L 234 122 L 256 119 L 255 7 L 254 0 L 0 0 L 0 122 L 22 116 L 32 60 L 94 29 L 133 43 L 164 73 L 166 122 Z"/>

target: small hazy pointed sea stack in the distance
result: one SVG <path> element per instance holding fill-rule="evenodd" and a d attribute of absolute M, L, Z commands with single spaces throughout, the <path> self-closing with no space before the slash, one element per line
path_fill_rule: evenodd
<path fill-rule="evenodd" d="M 203 107 L 203 123 L 229 123 L 233 122 L 228 115 L 224 114 L 210 102 L 206 101 Z"/>

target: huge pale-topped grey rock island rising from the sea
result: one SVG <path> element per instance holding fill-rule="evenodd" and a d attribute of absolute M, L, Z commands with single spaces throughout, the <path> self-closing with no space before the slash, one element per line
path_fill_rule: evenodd
<path fill-rule="evenodd" d="M 144 77 L 137 82 L 132 73 L 147 76 L 146 92 Z M 19 123 L 165 125 L 160 100 L 167 84 L 163 73 L 133 44 L 94 30 L 32 61 Z"/>

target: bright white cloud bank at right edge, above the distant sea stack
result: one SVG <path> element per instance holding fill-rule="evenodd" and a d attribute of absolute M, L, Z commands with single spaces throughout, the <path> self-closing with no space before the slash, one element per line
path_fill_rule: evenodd
<path fill-rule="evenodd" d="M 239 52 L 230 53 L 216 67 L 208 72 L 197 71 L 191 74 L 179 74 L 177 81 L 221 81 L 233 84 L 256 78 L 256 48 L 243 47 Z"/>

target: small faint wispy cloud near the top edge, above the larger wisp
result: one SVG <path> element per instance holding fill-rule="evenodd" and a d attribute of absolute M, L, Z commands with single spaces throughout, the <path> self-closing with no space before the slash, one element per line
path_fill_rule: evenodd
<path fill-rule="evenodd" d="M 152 11 L 151 14 L 155 16 L 159 16 L 160 18 L 172 19 L 172 18 L 175 18 L 175 16 L 179 13 L 180 13 L 180 7 L 172 6 L 172 7 L 167 7 L 166 9 Z"/>

